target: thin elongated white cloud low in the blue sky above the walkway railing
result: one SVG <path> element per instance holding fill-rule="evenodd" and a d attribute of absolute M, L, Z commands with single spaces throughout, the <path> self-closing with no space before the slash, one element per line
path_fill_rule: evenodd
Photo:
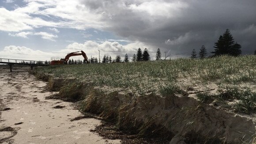
<path fill-rule="evenodd" d="M 41 36 L 42 39 L 50 40 L 50 41 L 55 41 L 54 38 L 58 37 L 57 35 L 53 35 L 52 33 L 46 33 L 46 32 L 38 32 L 38 33 L 20 32 L 15 34 L 8 33 L 8 35 L 13 37 L 24 37 L 24 38 L 28 38 L 27 37 L 28 35 L 35 35 L 35 36 Z"/>

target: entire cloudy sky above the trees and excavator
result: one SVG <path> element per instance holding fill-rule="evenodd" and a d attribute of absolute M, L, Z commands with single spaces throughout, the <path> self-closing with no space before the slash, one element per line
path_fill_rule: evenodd
<path fill-rule="evenodd" d="M 0 58 L 50 60 L 83 50 L 114 58 L 147 48 L 155 59 L 208 54 L 226 29 L 256 50 L 256 0 L 1 0 Z M 73 57 L 72 57 L 73 58 Z M 74 57 L 74 59 L 83 59 Z"/>

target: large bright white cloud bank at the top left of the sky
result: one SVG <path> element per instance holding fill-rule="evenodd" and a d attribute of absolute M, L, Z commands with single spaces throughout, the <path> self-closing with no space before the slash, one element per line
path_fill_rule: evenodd
<path fill-rule="evenodd" d="M 90 13 L 80 4 L 80 0 L 24 0 L 24 7 L 17 7 L 10 11 L 0 8 L 0 30 L 19 32 L 34 28 L 64 27 L 84 30 L 85 28 L 101 28 L 101 14 Z M 56 21 L 42 19 L 54 18 Z"/>

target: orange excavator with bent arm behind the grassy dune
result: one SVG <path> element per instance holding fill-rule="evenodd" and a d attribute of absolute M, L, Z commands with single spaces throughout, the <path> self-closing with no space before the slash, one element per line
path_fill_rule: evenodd
<path fill-rule="evenodd" d="M 78 53 L 78 52 L 81 52 L 81 53 Z M 83 51 L 78 51 L 78 52 L 71 52 L 71 53 L 68 53 L 68 55 L 66 55 L 66 57 L 64 59 L 55 59 L 54 57 L 52 58 L 52 61 L 50 63 L 50 65 L 60 65 L 60 64 L 68 64 L 68 59 L 71 57 L 71 56 L 77 56 L 77 55 L 83 55 L 83 58 L 85 59 L 85 61 L 87 63 L 90 63 L 88 58 L 87 58 L 87 55 L 83 52 Z"/>

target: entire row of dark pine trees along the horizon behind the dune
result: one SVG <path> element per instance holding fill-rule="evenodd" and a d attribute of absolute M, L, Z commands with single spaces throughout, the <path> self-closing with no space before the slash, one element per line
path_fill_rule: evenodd
<path fill-rule="evenodd" d="M 225 33 L 223 33 L 223 35 L 221 35 L 218 39 L 217 42 L 215 42 L 214 44 L 214 51 L 211 52 L 213 55 L 211 55 L 210 57 L 213 56 L 219 56 L 219 55 L 231 55 L 231 56 L 238 56 L 241 55 L 242 51 L 241 51 L 241 45 L 238 44 L 236 41 L 234 41 L 232 34 L 230 33 L 230 30 L 227 29 Z M 202 45 L 202 47 L 200 48 L 200 52 L 199 55 L 197 56 L 196 50 L 193 49 L 192 53 L 191 53 L 191 59 L 196 59 L 196 58 L 207 58 L 207 49 L 205 48 L 204 45 Z M 254 55 L 256 55 L 256 50 L 254 51 Z M 157 49 L 156 52 L 156 56 L 155 56 L 156 60 L 161 60 L 162 58 L 162 54 L 160 49 Z M 98 63 L 98 59 L 91 57 L 90 63 Z M 137 54 L 133 54 L 132 56 L 132 62 L 136 62 L 136 61 L 148 61 L 151 60 L 151 57 L 149 55 L 149 52 L 147 50 L 147 48 L 144 49 L 144 51 L 142 52 L 141 48 L 139 48 L 137 50 Z M 120 55 L 117 55 L 115 57 L 115 59 L 112 59 L 111 56 L 108 55 L 104 55 L 103 59 L 102 59 L 102 63 L 121 63 L 121 62 L 125 62 L 128 63 L 129 57 L 128 54 L 126 53 L 124 55 L 124 60 L 121 60 Z M 83 62 L 81 60 L 70 60 L 68 61 L 69 64 L 79 64 L 79 63 L 86 63 L 85 59 L 83 60 Z"/>

